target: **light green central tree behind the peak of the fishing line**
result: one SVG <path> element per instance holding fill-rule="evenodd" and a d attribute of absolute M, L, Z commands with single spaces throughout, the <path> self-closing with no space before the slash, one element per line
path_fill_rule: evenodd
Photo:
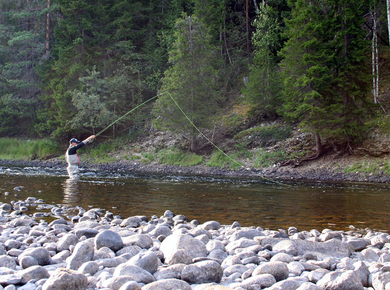
<path fill-rule="evenodd" d="M 210 44 L 210 34 L 206 26 L 196 17 L 178 19 L 174 49 L 170 52 L 173 64 L 165 72 L 162 92 L 168 91 L 180 108 L 198 128 L 209 126 L 209 120 L 217 104 L 217 48 Z M 156 101 L 154 124 L 177 133 L 188 133 L 191 151 L 197 152 L 197 131 L 176 107 L 170 96 L 161 96 Z"/>

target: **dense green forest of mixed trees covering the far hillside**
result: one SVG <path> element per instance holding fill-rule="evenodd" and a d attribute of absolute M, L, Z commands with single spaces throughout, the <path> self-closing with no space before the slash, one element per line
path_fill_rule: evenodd
<path fill-rule="evenodd" d="M 96 134 L 162 94 L 105 136 L 154 127 L 198 152 L 195 126 L 245 101 L 317 154 L 352 148 L 390 125 L 389 20 L 390 0 L 0 0 L 0 137 Z"/>

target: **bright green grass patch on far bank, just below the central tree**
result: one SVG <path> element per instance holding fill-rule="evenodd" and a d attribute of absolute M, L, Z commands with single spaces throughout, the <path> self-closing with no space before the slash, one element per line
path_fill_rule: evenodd
<path fill-rule="evenodd" d="M 160 164 L 192 166 L 203 162 L 203 156 L 182 152 L 178 149 L 163 149 L 158 154 Z"/>

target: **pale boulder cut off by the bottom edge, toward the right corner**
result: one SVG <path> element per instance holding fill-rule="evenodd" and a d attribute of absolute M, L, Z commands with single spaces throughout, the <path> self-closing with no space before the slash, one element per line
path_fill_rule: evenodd
<path fill-rule="evenodd" d="M 316 284 L 323 289 L 364 290 L 354 271 L 334 271 L 326 274 Z"/>

